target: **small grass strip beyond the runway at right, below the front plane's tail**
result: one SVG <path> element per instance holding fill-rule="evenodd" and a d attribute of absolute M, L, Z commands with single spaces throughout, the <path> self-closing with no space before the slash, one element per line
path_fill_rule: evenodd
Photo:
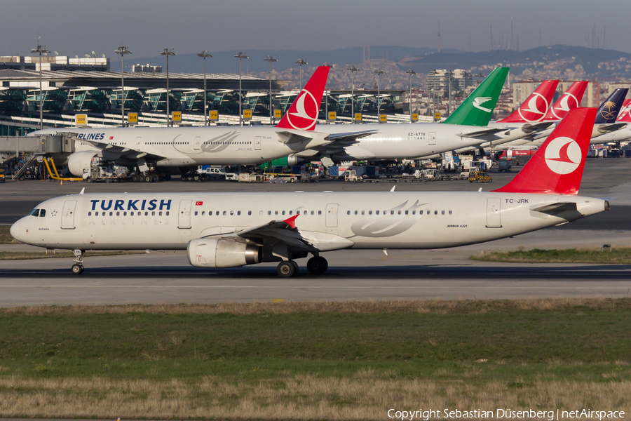
<path fill-rule="evenodd" d="M 602 263 L 613 265 L 630 265 L 631 248 L 577 249 L 563 250 L 517 250 L 494 253 L 480 253 L 470 257 L 471 260 L 484 262 L 513 262 L 513 263 Z"/>

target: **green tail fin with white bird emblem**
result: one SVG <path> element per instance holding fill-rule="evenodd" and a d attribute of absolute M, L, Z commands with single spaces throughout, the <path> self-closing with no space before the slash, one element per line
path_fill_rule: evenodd
<path fill-rule="evenodd" d="M 488 126 L 510 67 L 496 67 L 443 123 Z"/>

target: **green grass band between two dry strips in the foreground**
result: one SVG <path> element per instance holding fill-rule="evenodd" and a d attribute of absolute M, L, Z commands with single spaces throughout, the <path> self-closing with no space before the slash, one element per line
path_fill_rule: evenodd
<path fill-rule="evenodd" d="M 456 307 L 447 314 L 2 314 L 0 359 L 50 359 L 53 366 L 84 361 L 93 368 L 88 361 L 124 362 L 128 367 L 140 364 L 141 370 L 147 361 L 161 361 L 165 368 L 168 361 L 192 366 L 199 361 L 304 361 L 311 367 L 480 359 L 602 363 L 631 361 L 630 316 L 631 300 L 616 300 L 611 307 L 550 310 Z"/>

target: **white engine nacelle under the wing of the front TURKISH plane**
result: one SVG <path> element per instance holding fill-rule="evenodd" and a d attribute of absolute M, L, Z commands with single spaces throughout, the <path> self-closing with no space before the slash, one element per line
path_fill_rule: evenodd
<path fill-rule="evenodd" d="M 252 243 L 226 239 L 194 239 L 186 246 L 186 257 L 196 267 L 238 267 L 262 261 L 263 249 Z"/>

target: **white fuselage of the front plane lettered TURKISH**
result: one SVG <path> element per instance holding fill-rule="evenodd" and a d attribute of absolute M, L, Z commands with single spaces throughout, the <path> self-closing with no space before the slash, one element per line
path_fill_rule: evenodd
<path fill-rule="evenodd" d="M 550 215 L 534 209 L 576 203 Z M 292 215 L 315 250 L 446 248 L 558 225 L 602 212 L 583 196 L 494 192 L 293 192 L 75 194 L 50 199 L 11 234 L 74 250 L 182 250 L 193 239 L 231 236 Z"/>

